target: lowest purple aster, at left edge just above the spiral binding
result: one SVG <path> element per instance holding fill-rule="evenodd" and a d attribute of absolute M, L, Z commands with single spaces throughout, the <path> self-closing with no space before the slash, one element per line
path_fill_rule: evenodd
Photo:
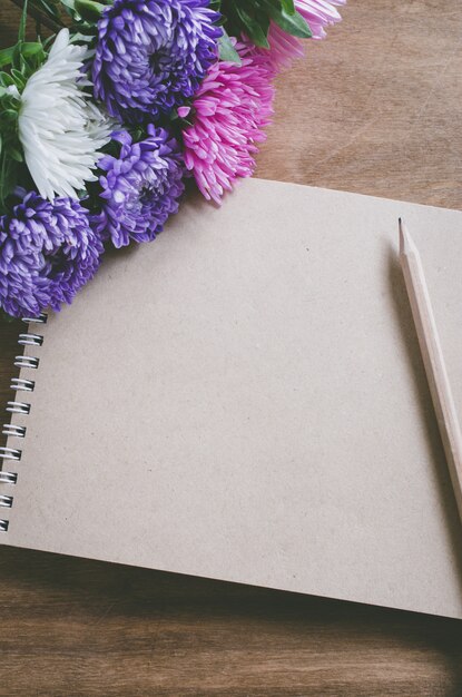
<path fill-rule="evenodd" d="M 95 274 L 104 251 L 78 200 L 17 189 L 0 217 L 0 306 L 14 317 L 59 311 Z"/>

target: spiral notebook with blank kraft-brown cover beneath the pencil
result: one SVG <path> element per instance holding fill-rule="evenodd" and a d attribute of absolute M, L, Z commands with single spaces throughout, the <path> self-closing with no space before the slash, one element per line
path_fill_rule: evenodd
<path fill-rule="evenodd" d="M 462 618 L 399 216 L 462 411 L 462 213 L 248 180 L 30 325 L 1 543 Z"/>

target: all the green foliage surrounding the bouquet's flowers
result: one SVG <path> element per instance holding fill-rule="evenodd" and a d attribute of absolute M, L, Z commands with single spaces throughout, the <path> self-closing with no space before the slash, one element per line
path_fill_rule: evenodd
<path fill-rule="evenodd" d="M 0 49 L 0 214 L 14 186 L 27 175 L 22 148 L 18 136 L 21 94 L 27 80 L 45 62 L 48 45 L 53 37 L 42 41 L 26 41 L 28 9 L 41 22 L 58 31 L 70 26 L 72 40 L 92 43 L 96 26 L 105 7 L 114 0 L 24 0 L 14 46 Z M 28 7 L 29 3 L 29 7 Z M 240 65 L 230 36 L 246 35 L 256 46 L 268 48 L 269 22 L 299 38 L 312 36 L 308 24 L 296 11 L 294 0 L 210 0 L 210 7 L 222 13 L 224 35 L 219 40 L 222 60 Z M 190 117 L 188 117 L 190 118 Z M 175 122 L 188 122 L 176 115 Z"/>

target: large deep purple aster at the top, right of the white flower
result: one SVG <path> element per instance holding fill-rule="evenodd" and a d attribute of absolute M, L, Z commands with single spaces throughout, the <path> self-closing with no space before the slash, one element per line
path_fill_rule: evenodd
<path fill-rule="evenodd" d="M 223 30 L 208 0 L 115 0 L 98 22 L 95 96 L 114 117 L 153 121 L 191 97 Z"/>

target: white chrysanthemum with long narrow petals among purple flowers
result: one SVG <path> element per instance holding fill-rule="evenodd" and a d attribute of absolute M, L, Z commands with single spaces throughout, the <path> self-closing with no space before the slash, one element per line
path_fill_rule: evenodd
<path fill-rule="evenodd" d="M 88 49 L 69 42 L 61 29 L 47 61 L 28 80 L 19 111 L 26 164 L 43 198 L 76 197 L 109 141 L 114 122 L 83 92 L 81 68 Z"/>

